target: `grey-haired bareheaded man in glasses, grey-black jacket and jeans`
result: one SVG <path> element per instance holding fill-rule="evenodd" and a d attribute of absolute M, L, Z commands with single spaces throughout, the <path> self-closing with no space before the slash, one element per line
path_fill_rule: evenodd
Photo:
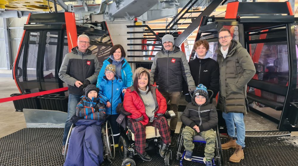
<path fill-rule="evenodd" d="M 59 78 L 68 86 L 68 116 L 63 134 L 63 150 L 65 151 L 66 138 L 72 125 L 70 119 L 76 114 L 76 106 L 84 94 L 83 88 L 89 84 L 96 84 L 100 66 L 97 57 L 88 49 L 89 37 L 80 35 L 77 38 L 77 47 L 65 55 L 59 71 Z"/>

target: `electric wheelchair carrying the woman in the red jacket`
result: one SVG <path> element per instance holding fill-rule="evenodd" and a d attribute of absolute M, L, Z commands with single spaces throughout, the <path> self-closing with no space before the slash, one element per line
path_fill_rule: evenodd
<path fill-rule="evenodd" d="M 120 110 L 121 114 L 125 116 L 123 119 L 124 124 L 121 123 L 120 133 L 121 136 L 119 138 L 119 154 L 120 158 L 123 159 L 122 166 L 135 166 L 136 162 L 134 161 L 133 157 L 137 154 L 135 151 L 135 144 L 134 144 L 134 133 L 131 131 L 129 124 L 129 119 L 126 117 L 131 115 L 131 113 L 126 112 L 124 109 Z M 175 113 L 174 113 L 175 116 Z M 171 116 L 173 117 L 173 115 Z M 166 117 L 167 118 L 167 117 Z M 125 127 L 124 127 L 125 126 Z M 155 135 L 155 127 L 153 126 L 146 126 L 146 152 L 156 152 L 162 146 L 162 139 L 159 135 L 158 129 L 156 129 L 157 135 Z M 172 151 L 170 149 L 167 150 L 165 157 L 164 157 L 164 164 L 170 165 L 172 159 Z"/>

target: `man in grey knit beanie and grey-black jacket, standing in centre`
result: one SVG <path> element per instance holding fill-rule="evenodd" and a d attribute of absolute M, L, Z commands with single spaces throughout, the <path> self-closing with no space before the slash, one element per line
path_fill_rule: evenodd
<path fill-rule="evenodd" d="M 158 52 L 151 67 L 150 80 L 158 84 L 158 90 L 167 102 L 170 100 L 170 110 L 176 116 L 170 120 L 171 146 L 174 146 L 173 136 L 178 121 L 178 105 L 182 91 L 182 81 L 186 80 L 188 90 L 195 90 L 195 82 L 190 74 L 190 69 L 184 52 L 174 46 L 174 37 L 166 34 L 162 37 L 163 48 Z"/>

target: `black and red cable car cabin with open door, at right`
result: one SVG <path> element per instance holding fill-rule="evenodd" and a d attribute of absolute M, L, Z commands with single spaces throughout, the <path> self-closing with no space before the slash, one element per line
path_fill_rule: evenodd
<path fill-rule="evenodd" d="M 277 122 L 279 130 L 297 131 L 298 19 L 290 4 L 236 1 L 228 3 L 225 18 L 203 16 L 196 40 L 209 42 L 214 60 L 223 27 L 247 49 L 256 68 L 248 83 L 250 110 Z"/>

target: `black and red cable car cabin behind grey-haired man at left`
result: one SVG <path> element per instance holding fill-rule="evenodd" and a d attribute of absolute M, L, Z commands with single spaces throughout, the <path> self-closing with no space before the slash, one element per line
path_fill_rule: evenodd
<path fill-rule="evenodd" d="M 106 22 L 76 23 L 72 12 L 29 15 L 13 66 L 19 91 L 34 93 L 66 87 L 58 72 L 65 54 L 77 46 L 81 34 L 89 36 L 89 49 L 103 63 L 113 46 Z"/>

